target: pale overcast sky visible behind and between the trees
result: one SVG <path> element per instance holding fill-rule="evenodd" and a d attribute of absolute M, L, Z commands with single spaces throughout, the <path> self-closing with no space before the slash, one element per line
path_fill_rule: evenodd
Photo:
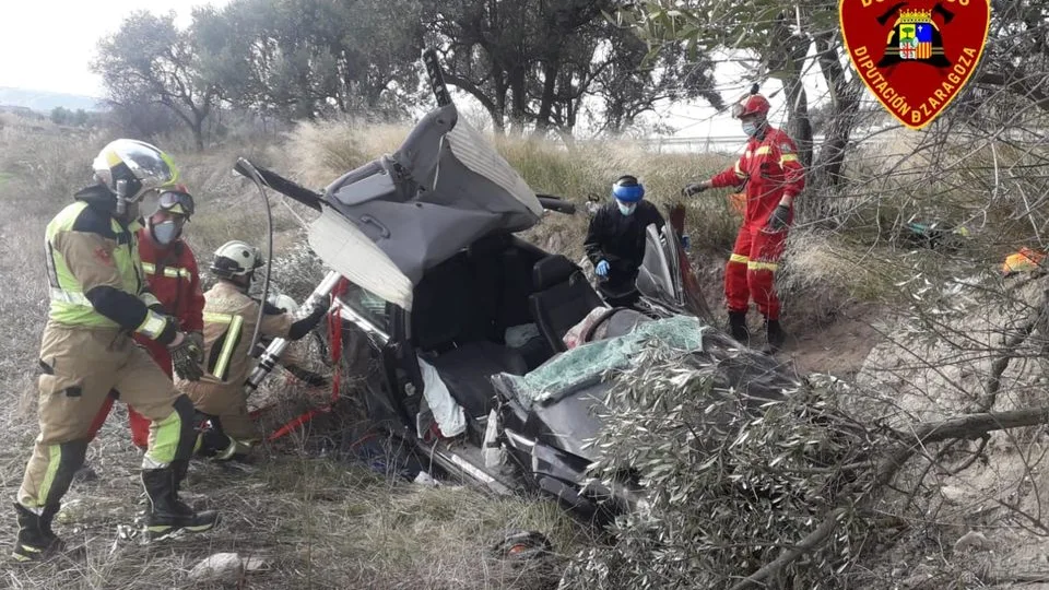
<path fill-rule="evenodd" d="M 101 97 L 101 79 L 91 72 L 101 38 L 115 33 L 132 11 L 175 11 L 176 23 L 186 26 L 193 7 L 224 5 L 227 0 L 8 0 L 0 19 L 0 86 L 63 92 Z M 17 57 L 17 58 L 15 58 Z M 733 99 L 750 85 L 742 68 L 726 63 L 716 70 L 719 90 Z M 805 78 L 810 105 L 825 96 L 817 71 Z M 785 121 L 783 93 L 778 81 L 768 81 L 762 92 L 773 105 L 774 125 Z M 459 94 L 459 93 L 456 93 Z M 458 102 L 458 98 L 457 98 Z M 705 103 L 664 105 L 653 117 L 676 128 L 674 137 L 731 137 L 741 134 L 739 121 L 728 113 L 717 114 Z"/>

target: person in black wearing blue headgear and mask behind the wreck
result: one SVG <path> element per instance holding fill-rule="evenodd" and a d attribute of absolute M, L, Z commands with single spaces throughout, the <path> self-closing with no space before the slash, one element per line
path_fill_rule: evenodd
<path fill-rule="evenodd" d="M 645 259 L 645 228 L 665 220 L 659 209 L 644 200 L 645 187 L 634 176 L 621 176 L 612 185 L 612 202 L 590 220 L 584 247 L 598 275 L 598 291 L 613 307 L 628 307 L 640 294 L 635 281 Z"/>

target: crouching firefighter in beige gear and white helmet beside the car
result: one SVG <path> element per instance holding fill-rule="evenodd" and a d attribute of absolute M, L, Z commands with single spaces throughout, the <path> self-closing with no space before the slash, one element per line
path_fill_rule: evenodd
<path fill-rule="evenodd" d="M 254 368 L 249 346 L 260 305 L 247 292 L 263 263 L 258 249 L 244 241 L 228 241 L 215 251 L 209 270 L 217 281 L 204 293 L 204 375 L 196 382 L 176 379 L 179 390 L 211 422 L 200 453 L 219 460 L 243 458 L 262 438 L 248 415 L 244 384 Z M 308 334 L 329 307 L 318 305 L 296 321 L 268 302 L 262 305 L 260 334 L 291 341 Z"/>

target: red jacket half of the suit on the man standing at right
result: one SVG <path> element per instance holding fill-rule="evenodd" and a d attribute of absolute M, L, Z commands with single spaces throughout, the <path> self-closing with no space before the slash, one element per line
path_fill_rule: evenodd
<path fill-rule="evenodd" d="M 768 127 L 765 139 L 751 138 L 735 164 L 715 175 L 715 188 L 746 185 L 743 225 L 764 227 L 783 196 L 797 197 L 805 188 L 804 168 L 790 137 Z"/>

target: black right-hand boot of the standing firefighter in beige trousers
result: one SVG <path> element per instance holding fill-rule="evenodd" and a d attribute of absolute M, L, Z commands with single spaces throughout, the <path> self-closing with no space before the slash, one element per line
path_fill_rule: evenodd
<path fill-rule="evenodd" d="M 219 523 L 219 512 L 195 512 L 178 499 L 178 484 L 186 474 L 186 467 L 175 461 L 162 469 L 142 470 L 142 485 L 150 498 L 150 511 L 145 517 L 145 530 L 151 541 L 158 541 L 180 531 L 204 532 Z"/>

